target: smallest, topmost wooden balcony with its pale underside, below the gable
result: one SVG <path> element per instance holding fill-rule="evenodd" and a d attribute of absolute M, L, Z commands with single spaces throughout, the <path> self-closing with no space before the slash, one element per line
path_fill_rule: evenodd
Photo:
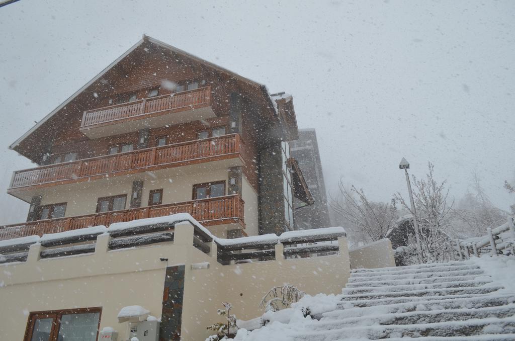
<path fill-rule="evenodd" d="M 215 117 L 211 87 L 84 111 L 80 131 L 90 139 Z"/>

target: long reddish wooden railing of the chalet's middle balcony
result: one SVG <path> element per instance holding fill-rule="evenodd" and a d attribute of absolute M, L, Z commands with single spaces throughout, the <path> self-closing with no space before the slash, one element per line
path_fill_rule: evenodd
<path fill-rule="evenodd" d="M 105 155 L 54 165 L 16 171 L 10 189 L 39 185 L 63 180 L 78 181 L 116 172 L 131 172 L 136 169 L 149 170 L 149 167 L 184 162 L 210 161 L 209 158 L 229 156 L 241 152 L 242 141 L 239 134 L 195 140 L 161 147 L 145 148 L 120 154 Z M 116 174 L 114 174 L 116 175 Z"/>

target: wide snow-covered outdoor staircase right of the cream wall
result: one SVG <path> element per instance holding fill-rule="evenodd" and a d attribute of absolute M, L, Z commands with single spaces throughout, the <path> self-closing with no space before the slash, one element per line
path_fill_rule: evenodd
<path fill-rule="evenodd" d="M 352 270 L 337 309 L 295 340 L 515 340 L 515 296 L 473 262 Z"/>

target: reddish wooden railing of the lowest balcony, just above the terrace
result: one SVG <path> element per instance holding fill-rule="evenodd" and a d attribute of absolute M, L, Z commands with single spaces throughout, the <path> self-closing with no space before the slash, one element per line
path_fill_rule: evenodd
<path fill-rule="evenodd" d="M 244 227 L 244 204 L 245 202 L 239 195 L 233 194 L 123 211 L 27 221 L 26 223 L 0 227 L 0 240 L 77 230 L 90 226 L 109 226 L 112 223 L 119 223 L 121 221 L 162 217 L 176 213 L 189 213 L 204 226 L 239 222 Z"/>

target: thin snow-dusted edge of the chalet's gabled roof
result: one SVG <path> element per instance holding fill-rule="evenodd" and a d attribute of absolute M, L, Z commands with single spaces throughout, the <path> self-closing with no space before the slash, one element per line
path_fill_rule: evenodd
<path fill-rule="evenodd" d="M 245 82 L 247 84 L 249 84 L 250 86 L 253 86 L 255 88 L 258 88 L 263 96 L 265 98 L 267 98 L 267 100 L 269 101 L 269 107 L 270 107 L 270 110 L 274 111 L 273 114 L 274 115 L 277 115 L 277 110 L 276 110 L 276 104 L 273 102 L 273 100 L 270 98 L 269 94 L 268 94 L 268 90 L 266 88 L 266 86 L 264 84 L 261 84 L 261 83 L 258 83 L 256 81 L 253 81 L 249 78 L 246 78 L 246 77 L 243 77 L 241 75 L 238 75 L 237 73 L 235 72 L 232 72 L 230 70 L 227 70 L 225 69 L 224 67 L 221 67 L 221 66 L 218 66 L 216 64 L 213 64 L 207 60 L 204 60 L 202 58 L 199 58 L 197 56 L 194 56 L 192 54 L 189 54 L 177 47 L 174 47 L 174 46 L 171 46 L 171 45 L 168 45 L 162 41 L 159 41 L 157 39 L 154 39 L 152 37 L 148 37 L 148 36 L 145 36 L 143 35 L 143 38 L 137 42 L 136 44 L 134 44 L 131 48 L 129 48 L 123 55 L 119 56 L 115 61 L 113 61 L 111 64 L 109 64 L 104 70 L 102 70 L 98 75 L 96 75 L 95 77 L 93 77 L 93 79 L 91 79 L 88 83 L 86 83 L 82 88 L 80 88 L 79 90 L 77 90 L 72 96 L 68 97 L 61 105 L 59 105 L 56 109 L 54 109 L 52 112 L 50 112 L 48 115 L 46 115 L 45 117 L 43 117 L 43 120 L 39 121 L 35 126 L 33 126 L 32 128 L 30 128 L 25 134 L 23 134 L 18 140 L 14 141 L 14 143 L 12 143 L 10 146 L 9 146 L 9 149 L 14 149 L 16 146 L 18 146 L 23 140 L 25 140 L 27 137 L 29 137 L 30 134 L 32 134 L 33 132 L 35 132 L 38 128 L 40 128 L 45 122 L 47 122 L 50 118 L 52 118 L 57 112 L 59 112 L 61 109 L 63 109 L 64 107 L 66 107 L 68 104 L 70 104 L 70 102 L 72 100 L 74 100 L 80 93 L 82 93 L 84 90 L 86 90 L 87 88 L 89 88 L 90 86 L 92 86 L 96 81 L 98 81 L 102 76 L 104 76 L 108 71 L 110 71 L 116 64 L 118 64 L 121 60 L 123 60 L 125 57 L 127 57 L 131 52 L 133 52 L 136 48 L 138 48 L 139 46 L 141 46 L 142 44 L 144 44 L 145 42 L 149 42 L 149 43 L 152 43 L 152 44 L 155 44 L 155 45 L 158 45 L 158 46 L 161 46 L 162 48 L 165 48 L 165 49 L 168 49 L 170 50 L 171 52 L 174 52 L 176 54 L 179 54 L 179 55 L 182 55 L 186 58 L 191 58 L 195 61 L 198 61 L 204 65 L 207 65 L 209 67 L 211 67 L 212 69 L 214 70 L 217 70 L 221 73 L 225 73 L 225 74 L 228 74 L 230 75 L 231 77 L 239 80 L 239 81 L 242 81 L 242 82 Z"/>

